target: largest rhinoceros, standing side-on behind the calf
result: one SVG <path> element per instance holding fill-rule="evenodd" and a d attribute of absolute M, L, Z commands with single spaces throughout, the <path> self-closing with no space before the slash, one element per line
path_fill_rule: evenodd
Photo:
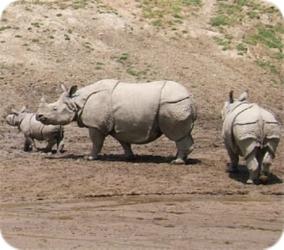
<path fill-rule="evenodd" d="M 56 102 L 47 104 L 42 98 L 37 119 L 61 125 L 77 121 L 79 127 L 87 127 L 93 143 L 89 160 L 98 158 L 108 135 L 117 139 L 128 159 L 133 158 L 131 144 L 145 144 L 162 134 L 176 143 L 172 163 L 184 164 L 193 149 L 196 109 L 192 95 L 179 83 L 105 79 L 80 89 L 61 87 Z"/>

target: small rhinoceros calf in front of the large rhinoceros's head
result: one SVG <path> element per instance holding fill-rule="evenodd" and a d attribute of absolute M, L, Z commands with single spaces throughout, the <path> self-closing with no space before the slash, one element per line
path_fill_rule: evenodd
<path fill-rule="evenodd" d="M 60 125 L 44 125 L 35 119 L 36 114 L 28 112 L 25 107 L 21 111 L 12 110 L 6 117 L 6 121 L 11 126 L 17 126 L 19 131 L 25 136 L 24 151 L 31 151 L 33 146 L 36 148 L 35 139 L 47 141 L 45 151 L 51 152 L 57 144 L 57 152 L 62 152 L 64 147 L 63 127 Z"/>

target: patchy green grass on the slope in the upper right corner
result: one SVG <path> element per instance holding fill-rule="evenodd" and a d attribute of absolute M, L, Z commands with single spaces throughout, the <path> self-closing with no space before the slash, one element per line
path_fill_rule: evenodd
<path fill-rule="evenodd" d="M 220 33 L 214 40 L 223 50 L 236 50 L 238 55 L 250 51 L 258 66 L 281 78 L 278 68 L 283 63 L 284 23 L 275 7 L 257 0 L 218 0 L 210 24 Z M 234 32 L 240 24 L 241 35 Z"/>

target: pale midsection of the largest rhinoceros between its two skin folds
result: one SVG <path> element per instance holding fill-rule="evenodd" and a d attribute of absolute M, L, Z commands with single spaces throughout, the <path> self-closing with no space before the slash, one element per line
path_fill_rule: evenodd
<path fill-rule="evenodd" d="M 161 135 L 157 124 L 164 81 L 119 83 L 112 94 L 113 136 L 129 143 L 147 143 Z"/>

